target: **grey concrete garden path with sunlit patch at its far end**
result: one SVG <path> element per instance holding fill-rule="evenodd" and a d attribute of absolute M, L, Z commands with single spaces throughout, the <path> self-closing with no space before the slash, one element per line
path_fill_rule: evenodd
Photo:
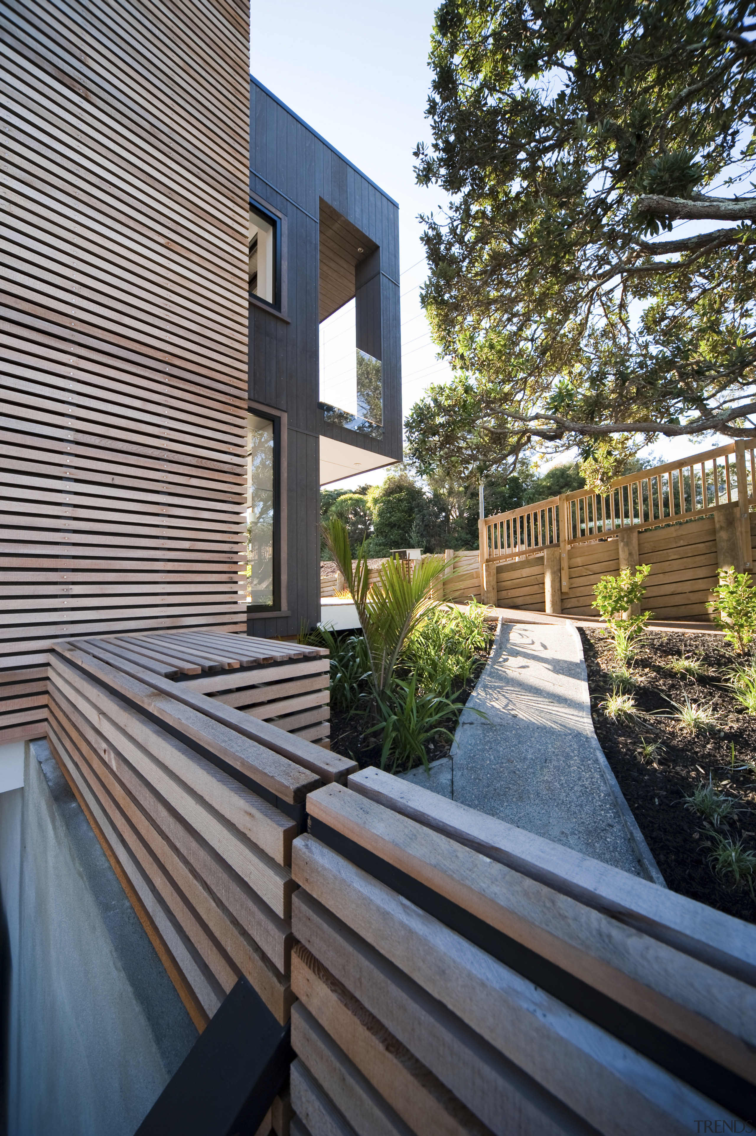
<path fill-rule="evenodd" d="M 664 884 L 593 732 L 575 627 L 499 624 L 451 758 L 451 777 L 446 767 L 438 774 L 432 767 L 431 777 L 424 770 L 410 776 L 470 808 Z"/>

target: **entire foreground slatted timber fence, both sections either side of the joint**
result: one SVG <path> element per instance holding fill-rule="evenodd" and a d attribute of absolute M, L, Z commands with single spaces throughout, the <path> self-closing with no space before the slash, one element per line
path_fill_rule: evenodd
<path fill-rule="evenodd" d="M 198 1027 L 240 976 L 291 1021 L 261 1133 L 756 1121 L 753 926 L 107 646 L 51 653 L 49 742 Z"/>

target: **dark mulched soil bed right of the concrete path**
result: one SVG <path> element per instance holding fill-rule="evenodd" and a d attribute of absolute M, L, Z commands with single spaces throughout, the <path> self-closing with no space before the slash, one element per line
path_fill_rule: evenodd
<path fill-rule="evenodd" d="M 637 680 L 632 693 L 638 709 L 649 717 L 621 724 L 607 718 L 600 705 L 612 693 L 609 671 L 616 669 L 612 642 L 601 630 L 583 628 L 581 636 L 598 740 L 667 886 L 756 922 L 748 885 L 732 887 L 714 875 L 707 862 L 711 828 L 683 800 L 697 785 L 708 783 L 711 774 L 717 792 L 734 797 L 740 810 L 720 830 L 741 837 L 746 850 L 756 851 L 756 717 L 743 712 L 726 686 L 726 673 L 738 661 L 732 649 L 720 635 L 647 633 L 632 668 Z M 683 653 L 700 658 L 706 674 L 696 679 L 675 675 L 670 665 Z M 682 703 L 684 695 L 711 705 L 718 728 L 691 736 L 673 718 L 659 716 L 675 713 L 666 699 Z M 664 749 L 653 762 L 643 762 L 635 752 L 641 737 Z M 750 768 L 738 768 L 747 762 Z"/>

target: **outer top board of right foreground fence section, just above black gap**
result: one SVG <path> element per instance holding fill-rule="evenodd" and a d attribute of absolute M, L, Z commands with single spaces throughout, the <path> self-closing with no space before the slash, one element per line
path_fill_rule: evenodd
<path fill-rule="evenodd" d="M 414 820 L 350 790 L 319 790 L 308 811 L 488 926 L 756 1080 L 753 987 L 443 834 L 418 829 Z"/>

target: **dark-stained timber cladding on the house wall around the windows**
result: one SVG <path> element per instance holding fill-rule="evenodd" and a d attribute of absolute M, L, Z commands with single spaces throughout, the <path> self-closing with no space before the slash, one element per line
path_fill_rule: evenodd
<path fill-rule="evenodd" d="M 250 191 L 279 210 L 288 227 L 286 320 L 250 306 L 249 396 L 285 410 L 289 418 L 286 607 L 291 615 L 250 618 L 249 632 L 294 635 L 302 620 L 314 623 L 319 610 L 318 436 L 401 458 L 398 207 L 254 80 L 250 97 Z M 380 283 L 369 286 L 369 318 L 380 326 L 381 440 L 326 425 L 317 407 L 321 199 L 380 248 Z M 369 335 L 374 343 L 375 332 Z"/>

